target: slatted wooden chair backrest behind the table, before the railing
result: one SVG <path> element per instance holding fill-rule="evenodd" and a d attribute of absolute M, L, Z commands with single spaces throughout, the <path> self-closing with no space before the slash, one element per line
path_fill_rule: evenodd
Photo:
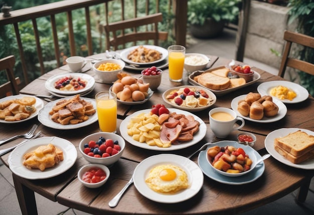
<path fill-rule="evenodd" d="M 126 43 L 134 42 L 135 45 L 137 41 L 149 40 L 153 40 L 153 44 L 157 46 L 159 40 L 168 38 L 168 32 L 158 31 L 158 23 L 161 21 L 163 21 L 163 15 L 157 13 L 104 25 L 107 49 L 110 50 L 110 47 L 113 47 L 114 50 L 117 50 L 119 45 L 123 45 L 125 48 Z M 144 30 L 138 29 L 141 26 Z M 125 32 L 125 29 L 130 29 L 131 32 Z"/>

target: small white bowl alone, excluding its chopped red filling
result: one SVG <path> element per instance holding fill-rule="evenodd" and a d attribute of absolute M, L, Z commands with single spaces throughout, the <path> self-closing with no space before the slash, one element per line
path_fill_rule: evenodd
<path fill-rule="evenodd" d="M 83 181 L 82 177 L 83 177 L 84 173 L 93 167 L 97 167 L 97 168 L 102 169 L 106 173 L 106 178 L 102 181 L 97 182 L 97 183 L 87 183 L 87 182 Z M 97 187 L 104 185 L 106 183 L 106 181 L 108 180 L 109 176 L 110 176 L 110 170 L 108 169 L 108 167 L 106 167 L 102 164 L 87 164 L 87 165 L 83 166 L 82 168 L 80 168 L 80 170 L 77 173 L 77 177 L 78 177 L 79 181 L 84 186 L 89 187 L 89 188 L 97 188 Z"/>

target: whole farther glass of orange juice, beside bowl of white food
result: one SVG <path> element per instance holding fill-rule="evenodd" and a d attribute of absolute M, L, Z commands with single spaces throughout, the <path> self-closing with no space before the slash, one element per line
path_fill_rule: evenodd
<path fill-rule="evenodd" d="M 171 81 L 182 81 L 185 53 L 186 48 L 184 46 L 168 47 L 169 78 Z"/>

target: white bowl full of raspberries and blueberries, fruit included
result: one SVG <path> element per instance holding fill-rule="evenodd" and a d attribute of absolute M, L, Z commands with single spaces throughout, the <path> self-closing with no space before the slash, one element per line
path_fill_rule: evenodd
<path fill-rule="evenodd" d="M 119 135 L 98 132 L 83 138 L 79 151 L 89 163 L 111 166 L 122 156 L 125 141 Z"/>

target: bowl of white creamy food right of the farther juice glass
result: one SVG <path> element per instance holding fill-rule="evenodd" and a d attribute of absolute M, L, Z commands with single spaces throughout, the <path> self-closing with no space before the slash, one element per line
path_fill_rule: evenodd
<path fill-rule="evenodd" d="M 210 59 L 204 54 L 188 53 L 185 54 L 184 68 L 187 70 L 188 74 L 191 74 L 197 70 L 205 70 L 209 61 Z"/>

